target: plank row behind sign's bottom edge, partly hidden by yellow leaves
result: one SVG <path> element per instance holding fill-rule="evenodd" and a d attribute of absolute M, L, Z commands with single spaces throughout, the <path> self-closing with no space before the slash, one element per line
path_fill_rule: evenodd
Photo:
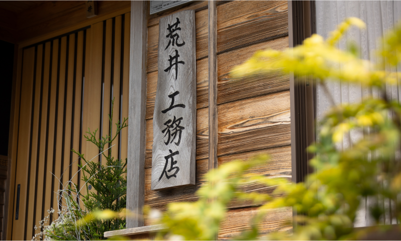
<path fill-rule="evenodd" d="M 256 166 L 251 169 L 249 173 L 256 175 L 267 175 L 271 177 L 282 177 L 291 181 L 291 148 L 290 146 L 262 149 L 257 151 L 242 152 L 233 155 L 225 155 L 218 158 L 219 165 L 233 161 L 233 160 L 244 160 L 247 161 L 250 158 L 261 154 L 269 154 L 271 159 L 268 165 Z M 145 168 L 145 205 L 159 210 L 165 210 L 166 204 L 170 202 L 179 201 L 195 201 L 197 196 L 195 192 L 198 188 L 206 183 L 204 175 L 209 170 L 208 159 L 196 160 L 196 185 L 174 188 L 172 190 L 153 191 L 150 189 L 150 168 Z M 275 190 L 274 187 L 266 187 L 261 184 L 247 184 L 240 187 L 244 191 L 257 191 L 260 193 L 272 194 Z M 273 196 L 280 196 L 280 193 L 274 194 Z M 233 200 L 228 204 L 229 208 L 240 208 L 251 205 L 260 205 L 262 203 L 251 203 L 247 201 Z M 152 221 L 145 218 L 145 225 L 152 224 Z"/>

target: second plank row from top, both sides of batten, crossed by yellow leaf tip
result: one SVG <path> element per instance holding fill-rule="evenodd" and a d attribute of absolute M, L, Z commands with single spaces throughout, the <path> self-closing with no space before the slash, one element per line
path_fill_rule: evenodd
<path fill-rule="evenodd" d="M 245 99 L 284 90 L 289 90 L 288 75 L 272 73 L 253 75 L 247 78 L 232 78 L 230 71 L 258 51 L 263 49 L 284 50 L 288 48 L 288 37 L 279 38 L 218 55 L 217 103 Z M 196 108 L 208 106 L 208 58 L 196 61 Z M 146 119 L 153 118 L 156 97 L 157 71 L 147 74 Z"/>

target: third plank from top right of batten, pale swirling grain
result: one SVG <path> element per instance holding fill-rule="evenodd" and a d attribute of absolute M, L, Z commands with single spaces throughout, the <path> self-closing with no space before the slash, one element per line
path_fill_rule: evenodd
<path fill-rule="evenodd" d="M 289 91 L 221 104 L 218 117 L 218 156 L 290 144 Z"/>

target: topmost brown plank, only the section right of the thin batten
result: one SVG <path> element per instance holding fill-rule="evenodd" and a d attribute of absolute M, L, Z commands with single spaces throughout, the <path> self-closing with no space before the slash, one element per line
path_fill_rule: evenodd
<path fill-rule="evenodd" d="M 286 0 L 235 0 L 217 11 L 218 53 L 288 35 Z"/>

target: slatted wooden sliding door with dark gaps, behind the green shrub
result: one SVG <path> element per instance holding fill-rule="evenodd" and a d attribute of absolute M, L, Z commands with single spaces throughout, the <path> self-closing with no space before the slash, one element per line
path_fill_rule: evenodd
<path fill-rule="evenodd" d="M 81 160 L 71 149 L 99 161 L 97 147 L 83 135 L 88 127 L 91 131 L 102 127 L 97 138 L 109 134 L 113 97 L 113 122 L 128 116 L 129 16 L 20 50 L 8 240 L 31 240 L 38 232 L 34 226 L 48 215 L 47 210 L 65 205 L 57 191 L 69 181 L 86 193 L 77 166 Z M 127 157 L 127 136 L 124 129 L 113 142 L 115 158 Z"/>

